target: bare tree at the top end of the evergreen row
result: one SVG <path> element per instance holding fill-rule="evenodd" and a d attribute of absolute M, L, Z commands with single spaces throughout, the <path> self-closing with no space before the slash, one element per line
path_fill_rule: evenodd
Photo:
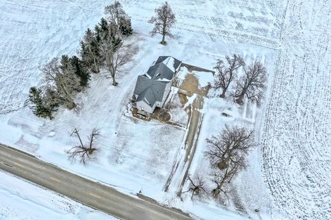
<path fill-rule="evenodd" d="M 122 25 L 130 25 L 130 19 L 128 14 L 123 10 L 123 7 L 119 1 L 114 1 L 114 3 L 107 5 L 105 7 L 105 13 L 108 15 L 108 23 L 116 26 L 116 33 L 120 34 Z"/>

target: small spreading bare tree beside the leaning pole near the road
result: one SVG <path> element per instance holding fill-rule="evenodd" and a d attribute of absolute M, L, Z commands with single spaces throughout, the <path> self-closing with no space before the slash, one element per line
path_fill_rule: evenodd
<path fill-rule="evenodd" d="M 77 135 L 79 135 L 78 132 Z M 70 162 L 75 162 L 78 159 L 81 164 L 85 166 L 88 165 L 88 162 L 94 159 L 94 151 L 99 150 L 99 148 L 94 147 L 94 142 L 99 135 L 99 130 L 93 129 L 92 133 L 88 137 L 88 145 L 84 145 L 83 142 L 81 142 L 81 138 L 79 137 L 79 146 L 74 146 L 70 148 L 70 150 L 66 151 Z"/>

